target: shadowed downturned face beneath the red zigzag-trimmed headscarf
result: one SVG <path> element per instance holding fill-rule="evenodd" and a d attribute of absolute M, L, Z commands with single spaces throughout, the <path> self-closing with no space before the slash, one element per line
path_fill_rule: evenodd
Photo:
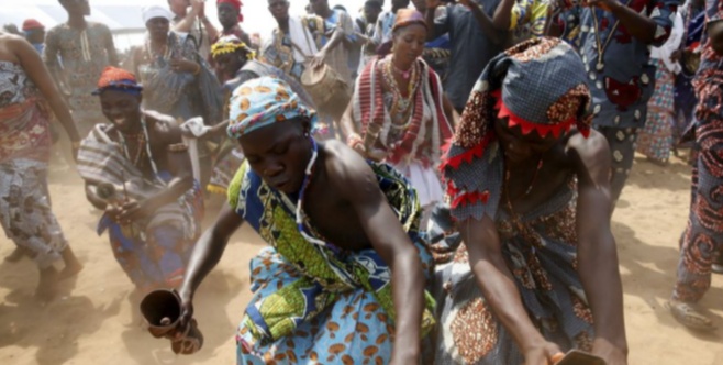
<path fill-rule="evenodd" d="M 504 152 L 505 159 L 513 163 L 521 163 L 531 157 L 538 157 L 549 151 L 559 140 L 559 137 L 555 137 L 552 133 L 544 137 L 536 131 L 524 134 L 520 125 L 509 126 L 509 119 L 507 117 L 498 118 L 494 121 L 494 132 Z"/>

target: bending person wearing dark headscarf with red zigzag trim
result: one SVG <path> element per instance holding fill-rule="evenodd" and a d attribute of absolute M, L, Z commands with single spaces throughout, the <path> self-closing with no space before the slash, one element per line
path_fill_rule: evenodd
<path fill-rule="evenodd" d="M 465 246 L 437 274 L 435 364 L 626 364 L 610 152 L 580 56 L 559 40 L 493 58 L 443 158 Z"/>

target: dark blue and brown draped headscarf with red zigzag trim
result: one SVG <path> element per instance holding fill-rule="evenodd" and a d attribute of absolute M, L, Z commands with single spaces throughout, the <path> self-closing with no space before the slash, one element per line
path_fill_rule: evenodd
<path fill-rule="evenodd" d="M 523 134 L 559 137 L 576 125 L 587 136 L 590 101 L 582 59 L 558 38 L 529 40 L 492 58 L 442 161 L 453 217 L 481 220 L 497 214 L 504 165 L 496 118 L 507 118 L 508 125 L 519 125 Z"/>

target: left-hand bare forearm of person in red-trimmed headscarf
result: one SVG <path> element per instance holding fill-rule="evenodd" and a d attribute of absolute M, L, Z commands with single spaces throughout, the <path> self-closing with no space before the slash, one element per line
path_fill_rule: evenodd
<path fill-rule="evenodd" d="M 502 257 L 494 222 L 469 218 L 459 222 L 459 233 L 469 253 L 469 265 L 487 303 L 512 334 L 525 356 L 525 365 L 552 364 L 560 351 L 537 331 L 522 303 L 520 291 Z"/>

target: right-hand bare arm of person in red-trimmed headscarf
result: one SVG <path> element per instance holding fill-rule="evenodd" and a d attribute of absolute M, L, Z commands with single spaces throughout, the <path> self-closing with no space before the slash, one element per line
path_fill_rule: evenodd
<path fill-rule="evenodd" d="M 610 365 L 626 364 L 623 289 L 610 230 L 610 150 L 594 131 L 588 139 L 572 136 L 570 144 L 578 166 L 578 273 L 594 318 L 592 350 Z"/>

